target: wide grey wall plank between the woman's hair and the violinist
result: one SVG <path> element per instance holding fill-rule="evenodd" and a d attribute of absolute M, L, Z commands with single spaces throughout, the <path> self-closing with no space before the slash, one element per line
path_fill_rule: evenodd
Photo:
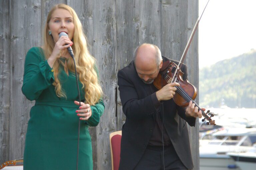
<path fill-rule="evenodd" d="M 77 12 L 87 35 L 90 52 L 98 63 L 104 91 L 105 112 L 90 128 L 93 169 L 111 169 L 109 134 L 116 130 L 116 4 L 115 0 L 68 1 Z"/>

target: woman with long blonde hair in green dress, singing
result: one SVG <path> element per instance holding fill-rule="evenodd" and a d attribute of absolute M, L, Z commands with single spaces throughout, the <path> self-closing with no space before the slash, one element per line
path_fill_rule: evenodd
<path fill-rule="evenodd" d="M 59 34 L 65 32 L 68 37 Z M 75 67 L 67 48 L 72 46 Z M 24 170 L 75 169 L 78 121 L 79 169 L 92 170 L 89 126 L 97 126 L 104 111 L 95 59 L 89 54 L 76 12 L 65 4 L 47 16 L 44 45 L 31 48 L 25 60 L 22 92 L 36 100 L 30 110 L 24 151 Z"/>

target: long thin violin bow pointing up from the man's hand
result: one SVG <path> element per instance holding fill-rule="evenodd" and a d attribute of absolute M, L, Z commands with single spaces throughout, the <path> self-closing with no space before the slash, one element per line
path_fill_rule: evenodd
<path fill-rule="evenodd" d="M 210 1 L 210 0 L 208 0 L 207 4 L 205 5 L 204 10 L 205 10 L 206 6 L 208 5 L 209 1 Z M 193 37 L 194 37 L 194 35 L 195 35 L 196 30 L 197 30 L 199 21 L 200 21 L 201 17 L 203 16 L 204 10 L 203 10 L 201 16 L 199 16 L 199 17 L 197 18 L 196 24 L 195 24 L 195 26 L 194 26 L 194 28 L 193 28 L 193 30 L 192 30 L 192 33 L 191 33 L 191 35 L 190 35 L 190 37 L 189 37 L 189 39 L 188 39 L 187 45 L 186 45 L 185 50 L 184 50 L 184 52 L 183 52 L 183 54 L 182 54 L 182 56 L 181 56 L 180 62 L 179 62 L 179 64 L 178 64 L 178 67 L 176 68 L 176 70 L 175 70 L 175 72 L 174 72 L 174 76 L 173 76 L 173 78 L 172 78 L 171 83 L 176 82 L 176 80 L 177 80 L 177 78 L 176 78 L 175 81 L 173 81 L 174 78 L 175 78 L 175 75 L 176 75 L 176 73 L 177 73 L 178 68 L 180 67 L 180 65 L 183 63 L 183 61 L 184 61 L 184 59 L 185 59 L 185 56 L 186 56 L 186 54 L 187 54 L 187 52 L 188 52 L 188 48 L 189 48 L 189 46 L 190 46 L 190 44 L 191 44 L 191 42 L 192 42 L 192 39 L 193 39 Z"/>

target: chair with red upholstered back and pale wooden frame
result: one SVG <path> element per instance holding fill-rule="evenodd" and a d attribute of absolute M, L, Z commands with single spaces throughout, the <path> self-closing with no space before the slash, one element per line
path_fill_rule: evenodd
<path fill-rule="evenodd" d="M 112 170 L 118 170 L 120 162 L 122 131 L 112 132 L 109 135 Z"/>

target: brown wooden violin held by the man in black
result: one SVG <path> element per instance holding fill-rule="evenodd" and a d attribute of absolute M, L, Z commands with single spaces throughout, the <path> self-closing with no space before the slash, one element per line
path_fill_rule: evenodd
<path fill-rule="evenodd" d="M 195 103 L 195 106 L 198 107 L 198 111 L 202 111 L 202 116 L 204 116 L 204 119 L 202 121 L 204 122 L 205 119 L 208 120 L 206 122 L 207 125 L 216 125 L 215 120 L 212 120 L 211 117 L 214 116 L 214 114 L 211 113 L 210 117 L 208 116 L 208 113 L 210 110 L 208 110 L 206 113 L 199 107 L 199 105 L 194 101 L 194 99 L 197 96 L 197 88 L 189 83 L 188 80 L 183 81 L 182 76 L 184 73 L 181 72 L 180 68 L 173 62 L 167 61 L 163 63 L 163 66 L 166 66 L 166 69 L 163 71 L 160 71 L 157 75 L 157 78 L 154 80 L 153 84 L 157 89 L 161 89 L 163 86 L 177 82 L 180 84 L 180 86 L 175 86 L 177 90 L 175 91 L 175 95 L 173 96 L 174 102 L 181 106 L 186 107 L 188 106 L 190 100 L 192 100 L 193 103 Z M 175 72 L 176 70 L 176 72 Z M 173 78 L 175 81 L 173 81 Z"/>

